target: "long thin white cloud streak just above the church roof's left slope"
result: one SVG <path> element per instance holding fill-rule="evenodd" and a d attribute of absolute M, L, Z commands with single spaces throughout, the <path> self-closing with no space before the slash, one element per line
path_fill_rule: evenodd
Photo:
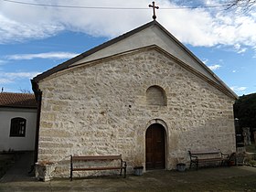
<path fill-rule="evenodd" d="M 77 56 L 77 53 L 70 52 L 48 52 L 37 54 L 16 54 L 6 56 L 6 59 L 70 59 Z"/>

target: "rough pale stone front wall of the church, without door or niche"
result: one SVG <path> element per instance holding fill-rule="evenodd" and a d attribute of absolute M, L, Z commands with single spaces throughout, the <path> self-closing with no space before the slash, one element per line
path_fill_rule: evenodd
<path fill-rule="evenodd" d="M 145 163 L 145 132 L 165 124 L 166 168 L 189 161 L 188 150 L 235 151 L 233 99 L 161 51 L 150 48 L 101 59 L 39 82 L 43 92 L 38 161 L 57 162 L 69 176 L 69 155 L 123 155 L 131 171 Z M 159 86 L 166 105 L 148 105 Z"/>

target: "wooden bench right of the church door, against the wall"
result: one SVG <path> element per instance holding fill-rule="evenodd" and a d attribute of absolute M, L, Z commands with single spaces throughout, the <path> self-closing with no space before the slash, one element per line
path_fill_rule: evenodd
<path fill-rule="evenodd" d="M 208 150 L 208 151 L 188 151 L 190 156 L 190 166 L 208 162 L 220 162 L 220 165 L 229 161 L 229 155 L 224 155 L 220 150 Z"/>

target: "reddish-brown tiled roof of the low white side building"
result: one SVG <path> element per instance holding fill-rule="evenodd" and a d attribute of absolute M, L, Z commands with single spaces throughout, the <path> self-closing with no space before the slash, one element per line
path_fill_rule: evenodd
<path fill-rule="evenodd" d="M 37 101 L 34 94 L 1 92 L 0 107 L 37 109 Z"/>

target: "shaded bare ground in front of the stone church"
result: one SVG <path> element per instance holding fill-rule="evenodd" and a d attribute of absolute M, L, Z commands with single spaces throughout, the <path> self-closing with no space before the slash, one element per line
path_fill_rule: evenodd
<path fill-rule="evenodd" d="M 185 172 L 155 170 L 143 176 L 91 176 L 86 178 L 37 181 L 27 172 L 30 154 L 23 154 L 5 176 L 0 179 L 2 191 L 256 191 L 256 167 L 231 166 L 186 170 Z"/>

